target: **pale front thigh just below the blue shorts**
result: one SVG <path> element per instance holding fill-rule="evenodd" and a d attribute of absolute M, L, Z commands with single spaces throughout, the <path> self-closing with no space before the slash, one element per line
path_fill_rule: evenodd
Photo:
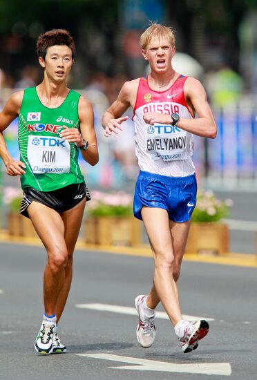
<path fill-rule="evenodd" d="M 168 212 L 157 207 L 143 207 L 142 219 L 153 254 L 173 256 Z"/>

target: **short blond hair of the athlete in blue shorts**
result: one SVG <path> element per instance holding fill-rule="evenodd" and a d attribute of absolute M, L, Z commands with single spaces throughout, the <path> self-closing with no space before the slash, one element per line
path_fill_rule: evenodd
<path fill-rule="evenodd" d="M 174 30 L 169 26 L 162 25 L 161 23 L 151 22 L 149 28 L 144 30 L 140 37 L 140 45 L 143 50 L 146 50 L 153 37 L 158 37 L 159 39 L 162 37 L 168 37 L 171 42 L 171 46 L 175 46 Z"/>

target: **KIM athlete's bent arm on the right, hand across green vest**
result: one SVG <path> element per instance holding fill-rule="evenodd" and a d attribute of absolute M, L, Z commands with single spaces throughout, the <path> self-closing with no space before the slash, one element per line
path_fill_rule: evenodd
<path fill-rule="evenodd" d="M 97 138 L 94 128 L 94 112 L 90 102 L 84 97 L 79 97 L 79 123 L 80 131 L 77 128 L 64 128 L 60 133 L 60 137 L 68 142 L 75 142 L 79 148 L 83 144 L 83 140 L 88 141 L 88 149 L 80 150 L 82 157 L 88 164 L 94 166 L 99 161 L 97 149 Z"/>

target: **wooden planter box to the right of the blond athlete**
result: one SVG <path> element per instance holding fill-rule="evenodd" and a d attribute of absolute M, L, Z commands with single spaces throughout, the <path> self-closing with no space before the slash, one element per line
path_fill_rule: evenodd
<path fill-rule="evenodd" d="M 219 222 L 192 222 L 186 254 L 222 255 L 229 252 L 229 227 Z"/>

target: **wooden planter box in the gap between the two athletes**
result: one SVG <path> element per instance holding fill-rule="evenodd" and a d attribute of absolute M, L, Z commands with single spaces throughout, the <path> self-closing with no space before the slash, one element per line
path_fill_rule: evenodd
<path fill-rule="evenodd" d="M 84 221 L 84 240 L 88 244 L 139 245 L 141 243 L 140 220 L 133 216 L 88 217 Z"/>

